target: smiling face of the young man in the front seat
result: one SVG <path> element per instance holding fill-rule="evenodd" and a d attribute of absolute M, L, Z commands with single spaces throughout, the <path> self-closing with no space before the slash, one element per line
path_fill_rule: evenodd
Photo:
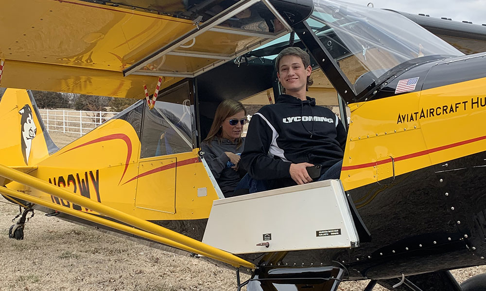
<path fill-rule="evenodd" d="M 280 59 L 277 77 L 287 93 L 305 91 L 311 71 L 311 66 L 305 67 L 300 57 L 286 55 Z"/>

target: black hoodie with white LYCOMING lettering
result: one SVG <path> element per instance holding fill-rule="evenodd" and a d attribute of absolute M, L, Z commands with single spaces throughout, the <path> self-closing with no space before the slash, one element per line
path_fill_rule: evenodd
<path fill-rule="evenodd" d="M 258 180 L 290 178 L 290 164 L 301 162 L 321 164 L 323 174 L 343 159 L 346 139 L 330 109 L 316 106 L 314 98 L 282 94 L 252 116 L 241 162 Z"/>

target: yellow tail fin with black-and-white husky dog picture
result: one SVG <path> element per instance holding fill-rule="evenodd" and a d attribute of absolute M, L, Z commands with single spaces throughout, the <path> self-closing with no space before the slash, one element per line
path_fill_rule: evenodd
<path fill-rule="evenodd" d="M 35 165 L 59 150 L 40 118 L 31 91 L 0 91 L 0 163 L 7 166 Z"/>

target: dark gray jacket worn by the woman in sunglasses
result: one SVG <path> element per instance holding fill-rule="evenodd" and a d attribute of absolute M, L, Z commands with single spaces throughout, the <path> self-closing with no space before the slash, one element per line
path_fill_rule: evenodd
<path fill-rule="evenodd" d="M 221 188 L 221 191 L 226 197 L 226 194 L 233 193 L 236 185 L 241 180 L 240 172 L 242 170 L 242 164 L 241 162 L 239 163 L 240 171 L 235 171 L 231 167 L 228 167 L 227 162 L 229 162 L 229 158 L 225 152 L 242 153 L 244 137 L 242 137 L 242 140 L 242 145 L 238 149 L 236 148 L 236 144 L 218 137 L 214 137 L 210 143 L 202 143 L 204 159 L 208 163 L 214 178 L 216 178 L 219 188 Z"/>

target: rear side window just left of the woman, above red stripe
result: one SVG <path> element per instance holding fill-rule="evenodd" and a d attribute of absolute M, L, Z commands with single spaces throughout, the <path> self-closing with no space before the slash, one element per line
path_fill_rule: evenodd
<path fill-rule="evenodd" d="M 189 152 L 195 141 L 189 82 L 161 93 L 153 109 L 144 106 L 140 158 Z"/>

